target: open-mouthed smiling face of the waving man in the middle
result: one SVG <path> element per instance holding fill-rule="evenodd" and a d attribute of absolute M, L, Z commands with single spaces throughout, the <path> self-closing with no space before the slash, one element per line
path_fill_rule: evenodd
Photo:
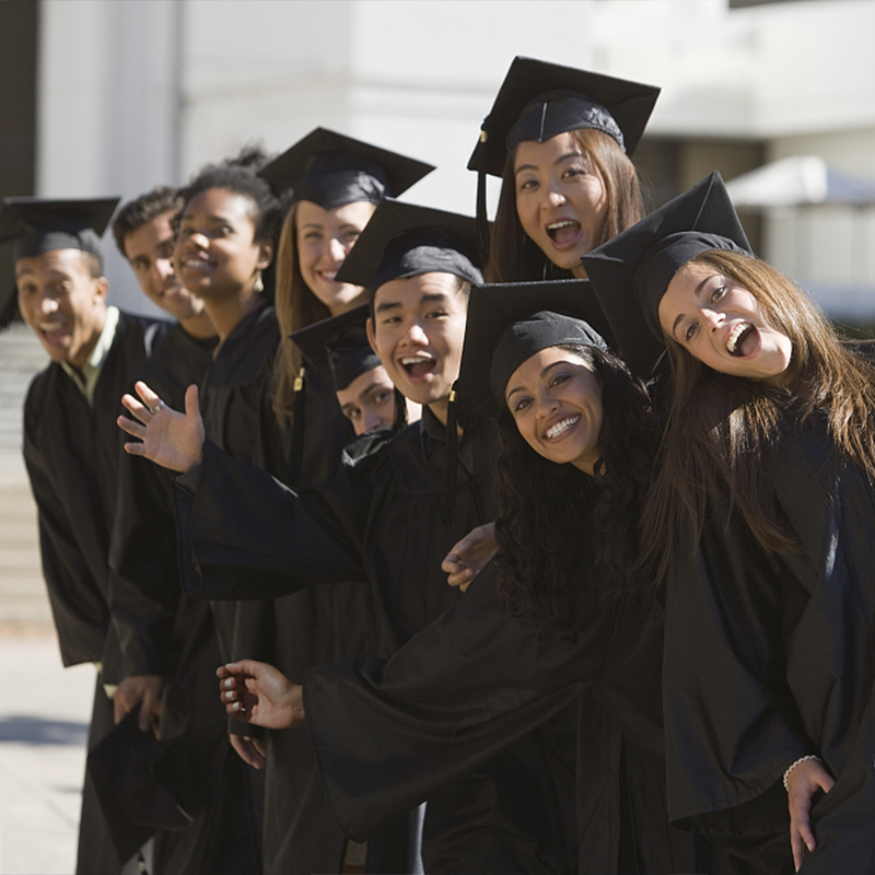
<path fill-rule="evenodd" d="M 467 310 L 456 277 L 422 273 L 383 283 L 368 320 L 368 339 L 392 382 L 442 422 L 458 376 Z"/>

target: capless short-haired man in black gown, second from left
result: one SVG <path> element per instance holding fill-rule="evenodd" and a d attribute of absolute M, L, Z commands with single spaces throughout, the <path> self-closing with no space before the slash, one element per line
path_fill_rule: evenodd
<path fill-rule="evenodd" d="M 175 189 L 158 187 L 125 205 L 113 223 L 143 293 L 176 319 L 136 375 L 173 406 L 183 406 L 186 388 L 203 378 L 218 341 L 203 302 L 178 282 L 173 268 L 173 222 L 180 206 Z M 179 802 L 194 822 L 155 837 L 154 871 L 253 872 L 257 855 L 238 835 L 245 798 L 224 781 L 226 758 L 236 755 L 224 713 L 211 708 L 206 695 L 211 666 L 220 660 L 212 610 L 179 584 L 172 490 L 166 470 L 121 452 L 109 556 L 113 619 L 125 656 L 116 722 L 137 709 L 140 728 L 155 724 L 187 763 Z"/>

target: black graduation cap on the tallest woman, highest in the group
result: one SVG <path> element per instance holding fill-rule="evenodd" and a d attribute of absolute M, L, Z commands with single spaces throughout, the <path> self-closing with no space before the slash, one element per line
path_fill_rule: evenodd
<path fill-rule="evenodd" d="M 608 133 L 631 155 L 658 96 L 655 85 L 517 56 L 480 126 L 468 170 L 501 176 L 517 143 L 581 128 Z"/>

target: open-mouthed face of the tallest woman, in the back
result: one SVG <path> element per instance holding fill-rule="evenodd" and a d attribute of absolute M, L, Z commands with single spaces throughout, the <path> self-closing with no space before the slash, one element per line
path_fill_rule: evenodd
<path fill-rule="evenodd" d="M 581 269 L 581 258 L 602 241 L 608 198 L 572 133 L 520 143 L 514 180 L 516 214 L 526 234 L 557 267 Z"/>

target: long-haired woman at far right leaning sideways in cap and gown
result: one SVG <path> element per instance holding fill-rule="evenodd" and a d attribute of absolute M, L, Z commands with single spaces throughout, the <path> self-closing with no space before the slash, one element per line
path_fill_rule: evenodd
<path fill-rule="evenodd" d="M 621 346 L 650 334 L 672 362 L 644 516 L 672 817 L 734 872 L 868 872 L 871 361 L 751 255 L 716 173 L 585 264 Z"/>

